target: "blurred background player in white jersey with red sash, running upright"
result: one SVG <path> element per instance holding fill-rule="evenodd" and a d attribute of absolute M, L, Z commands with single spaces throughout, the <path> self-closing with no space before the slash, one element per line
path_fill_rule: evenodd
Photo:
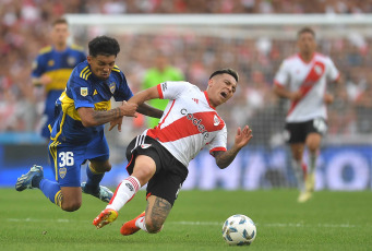
<path fill-rule="evenodd" d="M 297 47 L 299 52 L 285 59 L 276 73 L 274 92 L 290 100 L 286 131 L 300 190 L 298 201 L 305 202 L 314 190 L 316 157 L 327 130 L 326 105 L 334 99 L 326 93 L 326 83 L 338 82 L 339 72 L 328 57 L 316 52 L 312 28 L 298 32 Z M 310 154 L 309 168 L 302 162 L 305 146 Z"/>

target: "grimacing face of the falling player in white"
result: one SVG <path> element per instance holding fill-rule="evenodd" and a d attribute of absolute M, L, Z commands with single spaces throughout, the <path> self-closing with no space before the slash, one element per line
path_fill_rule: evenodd
<path fill-rule="evenodd" d="M 237 81 L 232 75 L 224 73 L 208 81 L 208 98 L 211 105 L 217 107 L 232 97 L 237 89 Z"/>

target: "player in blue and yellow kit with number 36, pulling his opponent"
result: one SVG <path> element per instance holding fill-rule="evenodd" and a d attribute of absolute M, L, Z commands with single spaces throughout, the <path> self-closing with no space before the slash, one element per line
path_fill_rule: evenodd
<path fill-rule="evenodd" d="M 121 131 L 123 116 L 135 111 L 160 118 L 163 111 L 146 104 L 127 104 L 133 94 L 123 72 L 115 64 L 120 46 L 115 38 L 100 36 L 89 41 L 87 60 L 71 73 L 58 99 L 61 111 L 56 119 L 49 142 L 49 158 L 56 181 L 44 178 L 43 168 L 33 166 L 17 179 L 15 189 L 38 188 L 63 211 L 76 211 L 82 204 L 82 191 L 109 202 L 112 192 L 99 186 L 106 171 L 111 169 L 104 124 L 111 122 Z M 110 109 L 110 99 L 123 101 Z M 81 183 L 81 166 L 86 168 L 87 181 Z"/>

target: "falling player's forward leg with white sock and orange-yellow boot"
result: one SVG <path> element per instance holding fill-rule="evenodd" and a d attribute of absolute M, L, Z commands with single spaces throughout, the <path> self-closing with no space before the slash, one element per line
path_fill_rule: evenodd
<path fill-rule="evenodd" d="M 146 184 L 155 175 L 156 164 L 154 159 L 146 155 L 137 155 L 135 157 L 133 172 L 130 177 L 121 181 L 118 186 L 110 203 L 93 222 L 97 228 L 112 223 L 118 217 L 118 212 L 123 207 L 141 187 Z"/>

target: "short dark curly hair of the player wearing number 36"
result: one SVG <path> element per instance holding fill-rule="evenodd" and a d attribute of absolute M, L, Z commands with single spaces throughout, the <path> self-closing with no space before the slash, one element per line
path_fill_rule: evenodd
<path fill-rule="evenodd" d="M 108 36 L 95 37 L 88 44 L 89 55 L 92 57 L 97 57 L 98 55 L 104 56 L 118 56 L 120 51 L 120 46 L 117 39 Z"/>

